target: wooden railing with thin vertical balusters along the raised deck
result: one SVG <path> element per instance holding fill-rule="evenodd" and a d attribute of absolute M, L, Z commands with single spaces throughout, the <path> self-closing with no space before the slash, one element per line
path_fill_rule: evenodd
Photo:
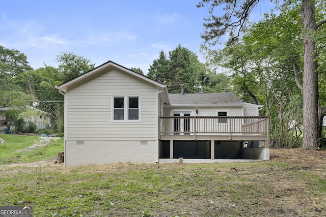
<path fill-rule="evenodd" d="M 268 135 L 267 116 L 161 116 L 160 135 L 244 134 Z"/>

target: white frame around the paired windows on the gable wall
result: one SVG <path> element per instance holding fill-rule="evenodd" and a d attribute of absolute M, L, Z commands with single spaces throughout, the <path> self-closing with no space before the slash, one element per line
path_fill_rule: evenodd
<path fill-rule="evenodd" d="M 123 98 L 123 120 L 115 120 L 114 119 L 114 99 L 115 98 Z M 129 98 L 138 98 L 138 119 L 137 120 L 129 120 Z M 112 122 L 141 122 L 141 96 L 140 95 L 117 95 L 112 96 L 111 98 L 111 121 Z"/>

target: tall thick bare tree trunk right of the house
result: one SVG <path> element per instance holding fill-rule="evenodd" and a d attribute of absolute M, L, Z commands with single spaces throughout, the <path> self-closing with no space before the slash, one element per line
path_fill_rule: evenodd
<path fill-rule="evenodd" d="M 302 147 L 314 149 L 318 146 L 318 76 L 315 60 L 315 41 L 309 34 L 316 30 L 315 1 L 302 0 L 302 23 L 304 31 L 304 137 Z"/>

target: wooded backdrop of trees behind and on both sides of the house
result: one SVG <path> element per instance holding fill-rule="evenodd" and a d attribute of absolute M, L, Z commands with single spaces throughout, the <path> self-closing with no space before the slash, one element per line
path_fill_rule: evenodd
<path fill-rule="evenodd" d="M 167 85 L 169 92 L 228 92 L 244 102 L 263 105 L 260 115 L 270 116 L 274 147 L 323 148 L 326 135 L 326 3 L 322 0 L 275 2 L 275 10 L 256 23 L 250 12 L 258 0 L 204 0 L 206 7 L 202 63 L 181 45 L 159 56 L 144 75 Z M 225 14 L 214 14 L 223 7 Z M 222 42 L 222 36 L 229 40 Z M 223 49 L 216 49 L 216 44 Z M 17 121 L 26 106 L 51 114 L 53 129 L 63 132 L 64 97 L 55 86 L 94 68 L 91 59 L 61 52 L 58 67 L 33 69 L 27 56 L 0 46 L 0 108 L 11 108 L 6 118 Z M 123 63 L 118 63 L 123 65 Z M 306 134 L 305 134 L 306 132 Z"/>

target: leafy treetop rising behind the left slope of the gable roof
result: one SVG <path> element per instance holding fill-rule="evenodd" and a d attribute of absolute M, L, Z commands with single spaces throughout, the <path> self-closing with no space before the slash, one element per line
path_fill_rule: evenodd
<path fill-rule="evenodd" d="M 66 75 L 65 81 L 82 75 L 94 68 L 95 64 L 83 56 L 72 52 L 61 52 L 56 59 L 59 72 Z"/>

